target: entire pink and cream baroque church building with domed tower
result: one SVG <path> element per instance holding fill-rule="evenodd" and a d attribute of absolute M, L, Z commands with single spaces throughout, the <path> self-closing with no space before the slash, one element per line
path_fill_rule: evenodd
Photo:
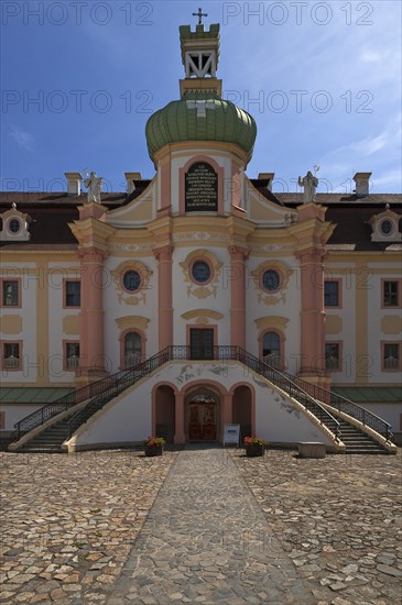
<path fill-rule="evenodd" d="M 91 173 L 83 193 L 66 173 L 64 193 L 1 195 L 3 435 L 15 449 L 64 419 L 74 451 L 221 442 L 236 424 L 345 451 L 349 422 L 392 450 L 401 197 L 369 194 L 370 173 L 352 195 L 248 177 L 257 127 L 222 99 L 219 25 L 180 35 L 181 98 L 145 129 L 151 180 L 106 194 Z"/>

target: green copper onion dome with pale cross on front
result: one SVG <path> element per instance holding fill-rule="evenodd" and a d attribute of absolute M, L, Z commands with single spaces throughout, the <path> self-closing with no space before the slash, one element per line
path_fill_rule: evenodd
<path fill-rule="evenodd" d="M 257 125 L 247 111 L 215 91 L 187 91 L 151 116 L 145 135 L 151 160 L 164 145 L 183 141 L 233 143 L 250 160 Z"/>

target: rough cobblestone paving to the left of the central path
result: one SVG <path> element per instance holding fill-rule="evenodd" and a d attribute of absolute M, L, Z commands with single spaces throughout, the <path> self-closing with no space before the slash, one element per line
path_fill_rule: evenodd
<path fill-rule="evenodd" d="M 175 457 L 1 452 L 1 605 L 106 603 Z"/>

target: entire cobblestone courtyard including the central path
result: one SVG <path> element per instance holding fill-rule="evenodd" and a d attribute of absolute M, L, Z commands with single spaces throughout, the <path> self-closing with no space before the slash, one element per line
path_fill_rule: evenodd
<path fill-rule="evenodd" d="M 400 603 L 401 452 L 0 455 L 2 604 Z"/>

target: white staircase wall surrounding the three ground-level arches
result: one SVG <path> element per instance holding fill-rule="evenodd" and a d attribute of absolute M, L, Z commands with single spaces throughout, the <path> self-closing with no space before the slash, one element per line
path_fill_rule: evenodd
<path fill-rule="evenodd" d="M 246 373 L 248 377 L 246 377 Z M 227 389 L 238 383 L 256 389 L 256 431 L 262 438 L 276 442 L 322 441 L 329 444 L 308 418 L 298 411 L 291 399 L 271 388 L 259 376 L 239 364 L 172 363 L 150 378 L 124 392 L 94 417 L 88 427 L 77 433 L 78 444 L 142 441 L 151 433 L 151 393 L 155 384 L 167 383 L 182 389 L 202 380 L 219 382 Z"/>

